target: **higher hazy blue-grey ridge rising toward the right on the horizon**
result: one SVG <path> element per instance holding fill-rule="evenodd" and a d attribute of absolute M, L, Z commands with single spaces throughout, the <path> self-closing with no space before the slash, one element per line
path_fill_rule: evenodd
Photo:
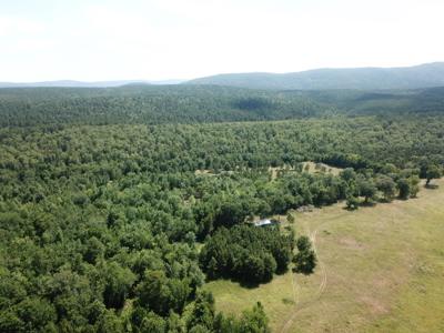
<path fill-rule="evenodd" d="M 444 62 L 404 68 L 316 69 L 284 74 L 219 74 L 185 83 L 274 90 L 418 89 L 444 85 Z"/>

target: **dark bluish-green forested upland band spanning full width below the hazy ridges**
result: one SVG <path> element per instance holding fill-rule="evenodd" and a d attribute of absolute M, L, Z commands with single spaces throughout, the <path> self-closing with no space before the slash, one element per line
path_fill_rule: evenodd
<path fill-rule="evenodd" d="M 442 114 L 444 89 L 261 91 L 205 85 L 0 89 L 0 125 L 263 121 Z"/>

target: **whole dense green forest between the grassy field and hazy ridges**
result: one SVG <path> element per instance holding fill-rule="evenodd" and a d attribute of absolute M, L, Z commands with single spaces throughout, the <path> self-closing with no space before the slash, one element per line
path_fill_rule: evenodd
<path fill-rule="evenodd" d="M 268 332 L 260 303 L 228 316 L 201 286 L 310 273 L 315 259 L 249 222 L 406 200 L 442 174 L 441 104 L 346 117 L 363 94 L 0 90 L 0 331 Z"/>

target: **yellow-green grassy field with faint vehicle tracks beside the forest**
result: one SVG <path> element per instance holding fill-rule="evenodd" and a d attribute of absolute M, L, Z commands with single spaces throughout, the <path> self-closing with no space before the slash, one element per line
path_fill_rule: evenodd
<path fill-rule="evenodd" d="M 244 289 L 206 284 L 223 312 L 261 301 L 275 332 L 444 331 L 444 180 L 418 199 L 356 212 L 334 205 L 296 213 L 300 233 L 315 238 L 315 274 L 286 273 Z"/>

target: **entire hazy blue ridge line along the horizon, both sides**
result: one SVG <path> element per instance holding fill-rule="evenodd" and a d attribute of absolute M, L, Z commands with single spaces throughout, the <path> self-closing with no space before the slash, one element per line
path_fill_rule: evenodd
<path fill-rule="evenodd" d="M 0 82 L 0 88 L 117 88 L 124 85 L 226 85 L 260 90 L 391 90 L 444 87 L 444 62 L 412 67 L 320 68 L 300 72 L 223 73 L 192 80 Z"/>

